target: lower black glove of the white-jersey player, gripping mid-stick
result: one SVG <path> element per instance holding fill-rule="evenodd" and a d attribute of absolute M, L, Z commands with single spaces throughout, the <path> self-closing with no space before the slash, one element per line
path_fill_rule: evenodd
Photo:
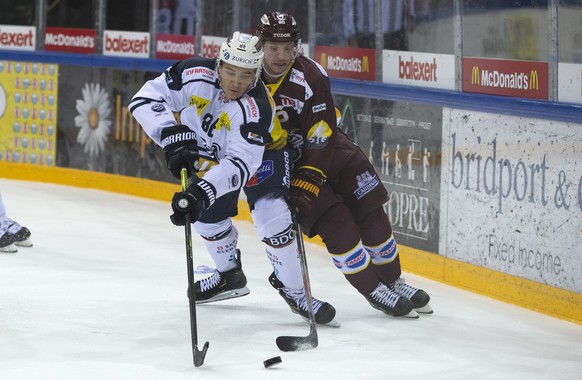
<path fill-rule="evenodd" d="M 176 226 L 186 225 L 186 216 L 190 216 L 190 223 L 194 223 L 202 216 L 202 212 L 210 207 L 216 198 L 214 187 L 197 176 L 192 177 L 193 182 L 186 188 L 174 194 L 172 198 L 172 210 L 174 213 L 170 220 Z"/>

